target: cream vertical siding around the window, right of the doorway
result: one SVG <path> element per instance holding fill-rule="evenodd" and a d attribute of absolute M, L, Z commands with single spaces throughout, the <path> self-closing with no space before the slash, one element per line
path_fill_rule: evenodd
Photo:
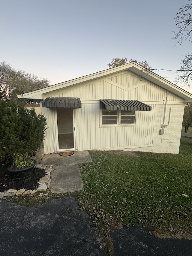
<path fill-rule="evenodd" d="M 155 105 L 152 111 L 136 111 L 136 125 L 101 126 L 99 103 L 82 103 L 75 110 L 76 149 L 111 149 L 147 145 L 153 140 Z"/>

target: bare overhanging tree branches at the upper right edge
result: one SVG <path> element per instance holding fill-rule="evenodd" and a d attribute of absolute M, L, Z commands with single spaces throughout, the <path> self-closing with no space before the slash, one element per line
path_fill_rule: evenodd
<path fill-rule="evenodd" d="M 189 0 L 190 2 L 191 0 Z M 191 42 L 192 33 L 192 3 L 186 4 L 184 7 L 179 8 L 179 13 L 175 17 L 176 26 L 178 31 L 174 32 L 177 44 L 182 44 L 185 40 Z M 192 81 L 192 53 L 187 52 L 182 59 L 181 71 L 179 71 L 179 76 L 176 82 L 182 82 L 186 86 L 190 86 Z"/>

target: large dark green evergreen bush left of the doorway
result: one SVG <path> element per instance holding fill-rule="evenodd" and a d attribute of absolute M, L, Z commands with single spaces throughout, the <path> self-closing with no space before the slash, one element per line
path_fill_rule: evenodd
<path fill-rule="evenodd" d="M 17 108 L 0 100 L 0 161 L 9 162 L 13 154 L 34 155 L 46 130 L 46 118 L 35 110 Z"/>

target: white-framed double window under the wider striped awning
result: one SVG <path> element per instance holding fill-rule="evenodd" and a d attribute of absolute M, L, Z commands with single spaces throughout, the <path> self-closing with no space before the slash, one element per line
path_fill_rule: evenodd
<path fill-rule="evenodd" d="M 135 111 L 102 110 L 102 125 L 135 124 Z"/>

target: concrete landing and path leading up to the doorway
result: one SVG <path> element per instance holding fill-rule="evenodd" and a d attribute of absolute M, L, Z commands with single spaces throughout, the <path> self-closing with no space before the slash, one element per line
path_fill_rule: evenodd
<path fill-rule="evenodd" d="M 83 188 L 81 173 L 77 164 L 92 162 L 88 151 L 75 151 L 73 155 L 44 155 L 43 165 L 55 165 L 50 189 L 52 193 L 79 191 Z"/>

